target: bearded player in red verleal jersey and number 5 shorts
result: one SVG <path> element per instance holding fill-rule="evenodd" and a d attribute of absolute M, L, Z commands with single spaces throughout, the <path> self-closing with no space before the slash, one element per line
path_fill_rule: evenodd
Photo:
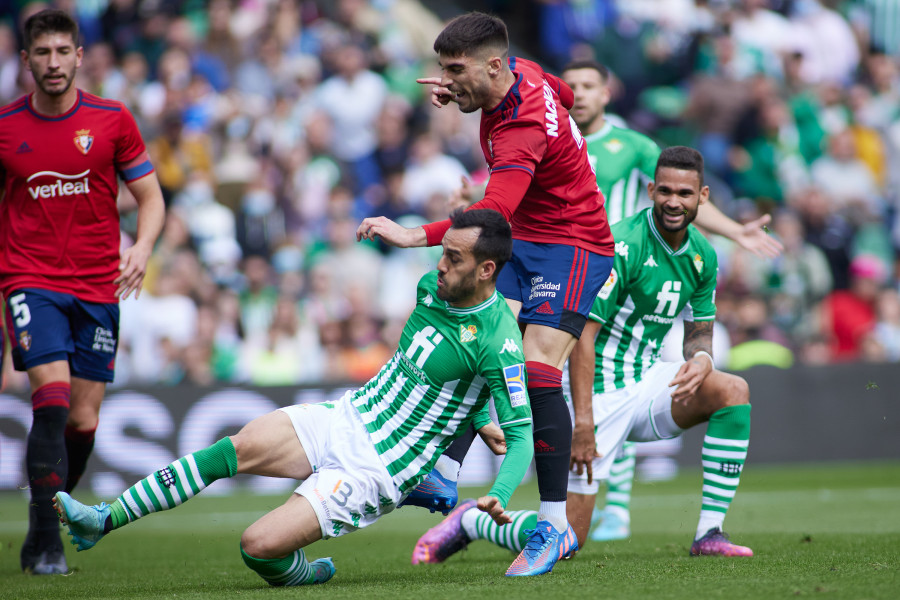
<path fill-rule="evenodd" d="M 35 90 L 0 108 L 0 291 L 32 390 L 21 564 L 52 575 L 68 568 L 51 501 L 84 472 L 113 380 L 118 301 L 141 290 L 165 205 L 128 110 L 73 85 L 84 53 L 75 21 L 41 11 L 23 39 Z M 138 203 L 137 239 L 121 256 L 119 177 Z"/>

